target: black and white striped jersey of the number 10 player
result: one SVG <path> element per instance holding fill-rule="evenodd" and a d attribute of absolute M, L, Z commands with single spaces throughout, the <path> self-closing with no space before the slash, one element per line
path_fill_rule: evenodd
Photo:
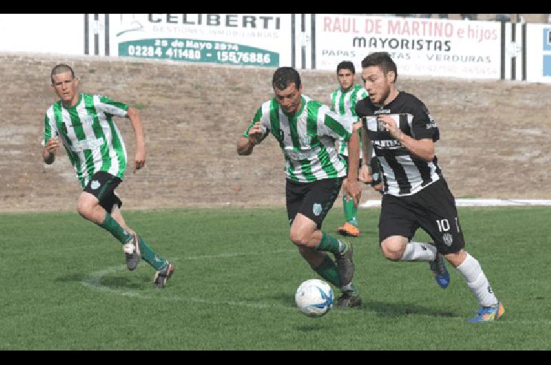
<path fill-rule="evenodd" d="M 377 121 L 378 115 L 388 114 L 397 122 L 402 133 L 417 140 L 431 138 L 436 142 L 439 139 L 436 122 L 418 98 L 407 92 L 399 92 L 391 103 L 377 107 L 367 97 L 357 102 L 356 113 L 362 117 L 363 127 L 381 163 L 384 194 L 412 195 L 444 178 L 436 156 L 427 162 L 411 154 Z"/>

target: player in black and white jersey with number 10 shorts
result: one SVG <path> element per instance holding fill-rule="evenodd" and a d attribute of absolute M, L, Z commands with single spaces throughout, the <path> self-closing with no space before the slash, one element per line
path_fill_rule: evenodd
<path fill-rule="evenodd" d="M 369 156 L 373 147 L 382 169 L 382 252 L 392 261 L 429 262 L 441 288 L 450 281 L 446 258 L 464 275 L 481 306 L 470 322 L 497 320 L 503 315 L 503 304 L 479 262 L 464 250 L 455 198 L 437 163 L 437 124 L 422 101 L 396 89 L 396 77 L 396 64 L 388 53 L 366 56 L 362 79 L 369 96 L 356 104 L 356 113 L 362 118 L 364 156 Z M 371 180 L 367 165 L 362 165 L 360 179 Z M 434 242 L 411 242 L 419 227 Z"/>

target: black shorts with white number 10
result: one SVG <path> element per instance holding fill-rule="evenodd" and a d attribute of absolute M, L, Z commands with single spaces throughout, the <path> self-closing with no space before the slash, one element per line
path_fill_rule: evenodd
<path fill-rule="evenodd" d="M 465 247 L 457 208 L 443 178 L 410 196 L 384 194 L 379 218 L 379 242 L 390 236 L 413 238 L 421 227 L 439 253 L 456 253 Z"/>

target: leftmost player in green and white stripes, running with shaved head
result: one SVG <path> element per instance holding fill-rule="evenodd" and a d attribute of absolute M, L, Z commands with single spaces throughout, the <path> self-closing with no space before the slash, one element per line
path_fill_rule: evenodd
<path fill-rule="evenodd" d="M 122 182 L 127 160 L 121 132 L 113 117 L 127 117 L 136 136 L 135 169 L 145 165 L 145 140 L 138 111 L 100 95 L 79 94 L 79 80 L 68 65 L 56 65 L 50 75 L 52 87 L 61 100 L 51 105 L 44 121 L 42 157 L 54 163 L 56 149 L 65 147 L 83 192 L 77 210 L 87 220 L 109 231 L 123 244 L 129 270 L 143 258 L 155 269 L 154 286 L 163 288 L 174 265 L 154 251 L 130 229 L 121 214 L 123 204 L 114 189 Z"/>

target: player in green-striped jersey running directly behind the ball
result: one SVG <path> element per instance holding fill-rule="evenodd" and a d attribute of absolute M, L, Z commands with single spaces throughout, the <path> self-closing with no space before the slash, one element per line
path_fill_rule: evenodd
<path fill-rule="evenodd" d="M 272 85 L 275 97 L 258 108 L 238 140 L 238 154 L 251 154 L 268 134 L 278 140 L 287 175 L 290 238 L 311 268 L 342 291 L 335 307 L 359 306 L 362 300 L 352 285 L 352 245 L 321 231 L 346 176 L 346 164 L 337 153 L 335 140 L 356 138 L 355 146 L 359 146 L 359 134 L 353 133 L 359 123 L 355 117 L 341 117 L 302 95 L 300 75 L 292 67 L 275 70 Z M 353 156 L 359 156 L 359 151 Z M 351 173 L 357 176 L 357 169 Z M 361 191 L 347 194 L 357 202 Z M 333 253 L 334 262 L 326 252 Z"/>

